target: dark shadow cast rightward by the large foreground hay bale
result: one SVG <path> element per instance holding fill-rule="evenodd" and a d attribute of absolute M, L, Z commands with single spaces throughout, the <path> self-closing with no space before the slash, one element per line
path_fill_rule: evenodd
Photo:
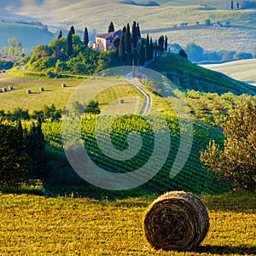
<path fill-rule="evenodd" d="M 234 254 L 239 253 L 240 255 L 255 255 L 256 254 L 256 247 L 248 247 L 246 245 L 241 246 L 200 246 L 193 250 L 195 253 L 211 253 L 211 254 Z"/>

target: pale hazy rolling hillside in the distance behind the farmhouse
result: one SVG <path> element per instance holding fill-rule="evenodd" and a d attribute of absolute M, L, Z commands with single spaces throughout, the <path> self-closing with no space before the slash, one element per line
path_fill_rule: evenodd
<path fill-rule="evenodd" d="M 135 1 L 147 3 L 147 1 Z M 157 39 L 164 33 L 170 43 L 185 46 L 193 42 L 207 50 L 232 49 L 253 52 L 256 33 L 255 10 L 236 10 L 229 8 L 229 2 L 209 0 L 201 1 L 156 1 L 160 6 L 147 7 L 125 4 L 118 0 L 106 1 L 15 1 L 0 3 L 0 15 L 13 20 L 40 20 L 55 29 L 65 31 L 71 25 L 84 31 L 84 26 L 92 34 L 107 32 L 112 20 L 116 28 L 127 22 L 137 20 L 143 34 L 154 29 L 150 35 Z M 207 5 L 207 6 L 205 6 Z M 121 14 L 121 15 L 120 15 Z M 230 27 L 211 29 L 179 29 L 171 31 L 173 26 L 183 22 L 195 25 L 196 21 L 204 24 L 206 19 L 212 23 L 230 22 Z M 93 40 L 94 37 L 90 38 Z"/>

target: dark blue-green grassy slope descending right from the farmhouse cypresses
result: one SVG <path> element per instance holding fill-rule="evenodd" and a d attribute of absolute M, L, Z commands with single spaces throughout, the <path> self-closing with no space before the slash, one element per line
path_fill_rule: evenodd
<path fill-rule="evenodd" d="M 218 94 L 232 92 L 235 95 L 256 94 L 255 86 L 231 79 L 223 73 L 197 66 L 176 54 L 167 54 L 153 61 L 148 67 L 165 74 L 180 90 L 199 90 Z"/>

